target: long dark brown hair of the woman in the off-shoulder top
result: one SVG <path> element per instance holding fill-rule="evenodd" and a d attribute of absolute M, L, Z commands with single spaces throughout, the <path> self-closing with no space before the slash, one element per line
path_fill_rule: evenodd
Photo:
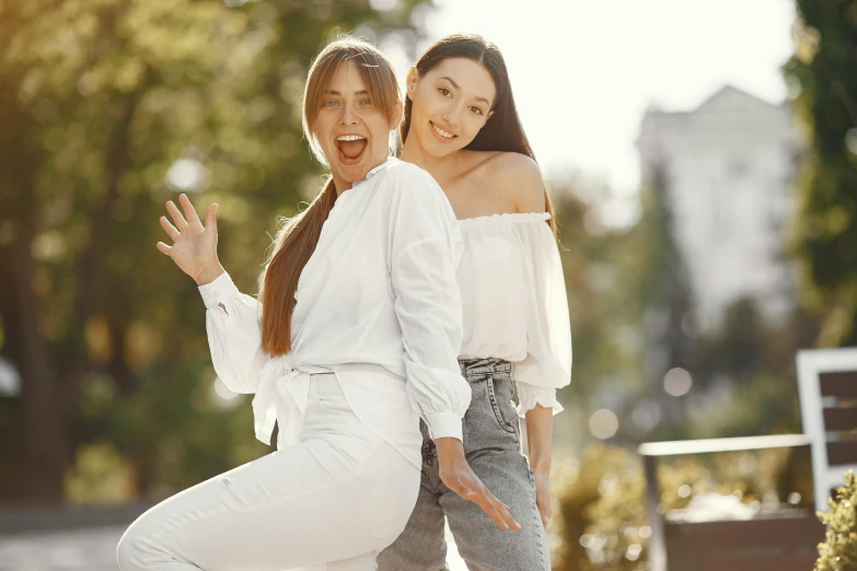
<path fill-rule="evenodd" d="M 502 151 L 525 154 L 535 161 L 535 154 L 526 139 L 518 108 L 512 96 L 512 85 L 509 72 L 499 48 L 478 34 L 452 34 L 432 44 L 417 60 L 415 67 L 420 77 L 425 75 L 443 60 L 449 58 L 467 58 L 477 61 L 488 70 L 497 89 L 497 100 L 494 102 L 494 115 L 479 130 L 471 143 L 465 147 L 471 151 Z M 410 130 L 410 109 L 414 102 L 405 96 L 405 116 L 399 127 L 402 142 L 407 139 Z M 545 209 L 551 214 L 547 224 L 556 235 L 554 221 L 554 203 L 545 187 Z"/>

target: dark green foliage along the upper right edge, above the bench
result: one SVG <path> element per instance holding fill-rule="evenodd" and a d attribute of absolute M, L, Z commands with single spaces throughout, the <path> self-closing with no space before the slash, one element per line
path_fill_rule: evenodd
<path fill-rule="evenodd" d="M 857 342 L 857 1 L 797 0 L 785 65 L 810 149 L 799 184 L 804 293 L 824 316 L 818 343 Z"/>

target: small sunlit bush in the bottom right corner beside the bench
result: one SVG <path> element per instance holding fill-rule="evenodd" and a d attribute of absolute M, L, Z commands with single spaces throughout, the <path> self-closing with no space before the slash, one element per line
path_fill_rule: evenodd
<path fill-rule="evenodd" d="M 815 571 L 857 569 L 857 476 L 845 474 L 845 486 L 827 500 L 829 512 L 819 512 L 827 526 L 825 541 L 819 545 Z"/>

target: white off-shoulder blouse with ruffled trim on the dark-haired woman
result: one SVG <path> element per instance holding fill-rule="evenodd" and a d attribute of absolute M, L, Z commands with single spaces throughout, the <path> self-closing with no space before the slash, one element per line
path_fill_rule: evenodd
<path fill-rule="evenodd" d="M 549 218 L 528 212 L 459 221 L 461 353 L 512 362 L 522 417 L 536 404 L 561 411 L 556 389 L 571 381 L 568 298 Z"/>

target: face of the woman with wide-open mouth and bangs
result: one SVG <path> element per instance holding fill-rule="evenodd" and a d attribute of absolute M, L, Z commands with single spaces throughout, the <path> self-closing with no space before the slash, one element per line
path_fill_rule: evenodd
<path fill-rule="evenodd" d="M 386 161 L 402 104 L 389 117 L 352 61 L 339 63 L 319 103 L 310 128 L 341 193 Z"/>

